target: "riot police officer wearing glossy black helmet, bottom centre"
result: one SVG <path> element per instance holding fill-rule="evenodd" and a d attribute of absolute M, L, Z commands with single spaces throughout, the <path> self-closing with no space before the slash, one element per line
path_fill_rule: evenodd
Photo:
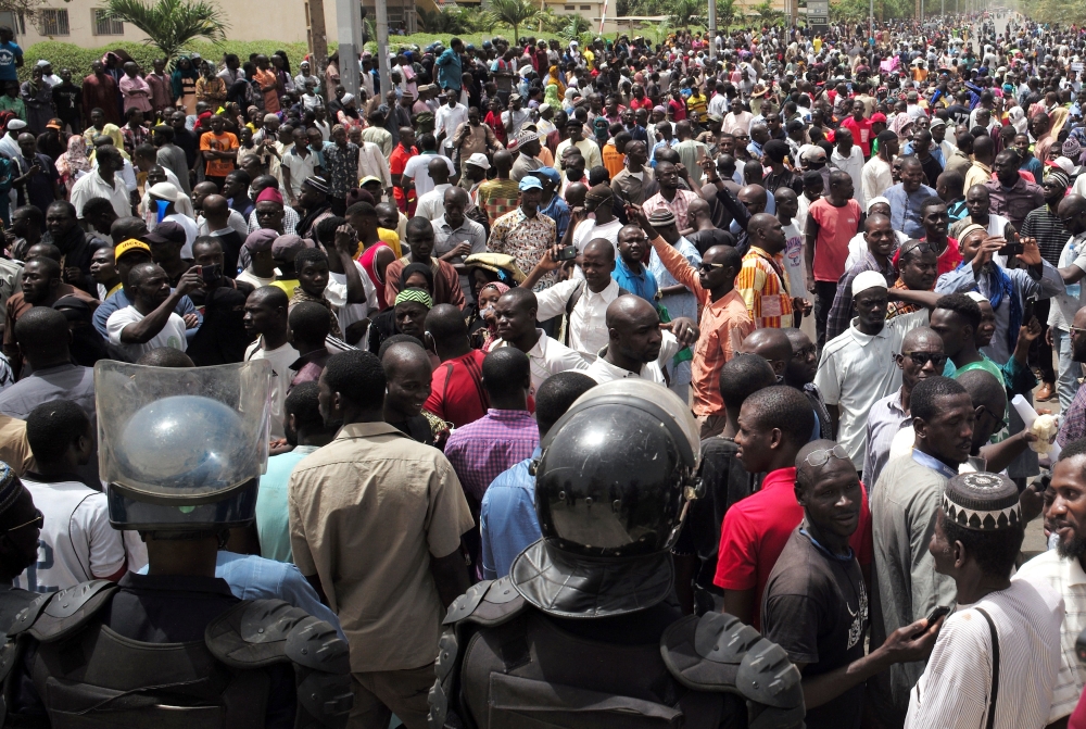
<path fill-rule="evenodd" d="M 799 671 L 736 618 L 683 617 L 669 549 L 698 427 L 658 385 L 581 395 L 535 464 L 543 538 L 450 607 L 430 728 L 803 726 Z"/>

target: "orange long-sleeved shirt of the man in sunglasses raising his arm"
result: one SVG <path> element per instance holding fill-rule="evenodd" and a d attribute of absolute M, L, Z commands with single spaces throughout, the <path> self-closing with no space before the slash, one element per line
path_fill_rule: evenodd
<path fill-rule="evenodd" d="M 754 323 L 747 312 L 743 297 L 735 289 L 717 301 L 712 301 L 707 289 L 702 288 L 697 271 L 685 256 L 657 237 L 653 249 L 660 256 L 660 263 L 675 280 L 694 292 L 702 306 L 697 327 L 700 335 L 694 348 L 694 361 L 690 363 L 691 385 L 694 389 L 694 414 L 723 415 L 724 401 L 720 397 L 720 370 L 724 363 L 735 356 L 735 350 L 746 336 L 754 331 Z"/>

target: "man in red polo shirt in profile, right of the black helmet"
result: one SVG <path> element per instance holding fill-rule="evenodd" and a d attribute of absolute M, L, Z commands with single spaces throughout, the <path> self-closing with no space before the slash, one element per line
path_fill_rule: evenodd
<path fill-rule="evenodd" d="M 779 385 L 748 397 L 740 411 L 736 457 L 750 474 L 766 473 L 761 490 L 724 515 L 714 583 L 724 591 L 724 612 L 761 629 L 769 575 L 792 531 L 804 518 L 796 501 L 796 455 L 815 429 L 815 413 L 799 390 Z M 844 450 L 834 457 L 848 458 Z M 871 564 L 871 512 L 867 491 L 860 524 L 849 539 L 861 568 Z"/>

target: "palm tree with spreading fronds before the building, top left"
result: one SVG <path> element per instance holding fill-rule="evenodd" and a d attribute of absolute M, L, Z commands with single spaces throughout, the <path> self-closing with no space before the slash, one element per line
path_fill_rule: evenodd
<path fill-rule="evenodd" d="M 204 0 L 109 0 L 106 12 L 146 33 L 143 42 L 156 46 L 167 61 L 197 38 L 226 40 L 230 27 L 219 7 Z"/>

